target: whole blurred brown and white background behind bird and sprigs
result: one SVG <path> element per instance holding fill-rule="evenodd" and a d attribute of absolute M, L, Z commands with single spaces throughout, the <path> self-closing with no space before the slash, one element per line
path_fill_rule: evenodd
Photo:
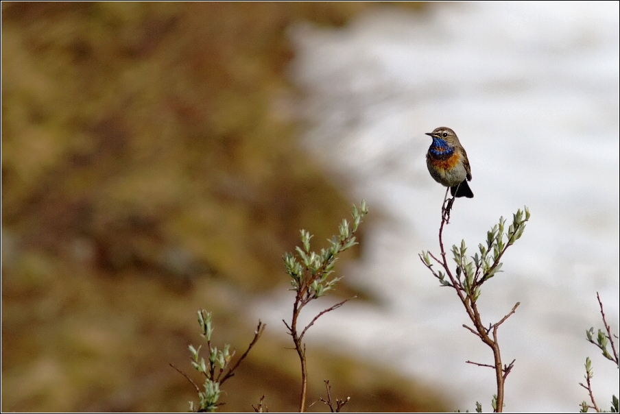
<path fill-rule="evenodd" d="M 575 411 L 617 332 L 619 10 L 587 3 L 3 3 L 2 409 L 183 411 L 195 310 L 237 345 L 222 411 L 293 411 L 283 252 L 368 200 L 335 295 L 307 335 L 311 395 L 350 411 L 490 409 L 489 351 L 417 253 L 444 189 L 425 167 L 446 125 L 472 165 L 446 243 L 532 211 L 487 284 L 510 411 Z M 330 298 L 315 310 L 329 306 Z M 311 313 L 311 312 L 310 312 Z M 198 379 L 194 377 L 195 379 Z M 324 407 L 316 404 L 315 411 Z"/>

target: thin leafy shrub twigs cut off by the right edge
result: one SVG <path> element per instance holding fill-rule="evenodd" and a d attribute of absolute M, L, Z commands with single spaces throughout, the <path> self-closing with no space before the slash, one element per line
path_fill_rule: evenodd
<path fill-rule="evenodd" d="M 601 353 L 603 354 L 603 356 L 607 358 L 609 361 L 612 361 L 612 363 L 615 363 L 616 367 L 618 368 L 619 367 L 618 352 L 616 350 L 616 344 L 614 341 L 614 338 L 618 339 L 618 335 L 612 335 L 611 333 L 611 329 L 605 317 L 605 311 L 603 310 L 603 302 L 601 302 L 601 297 L 599 296 L 598 292 L 596 294 L 596 297 L 597 297 L 597 300 L 599 301 L 599 307 L 601 308 L 601 317 L 603 319 L 603 325 L 605 327 L 605 331 L 599 329 L 596 335 L 596 340 L 595 340 L 594 339 L 594 328 L 590 328 L 589 330 L 586 330 L 586 339 L 588 339 L 588 342 L 596 345 L 597 348 L 601 350 Z M 611 353 L 607 349 L 607 345 L 611 345 Z M 618 413 L 619 404 L 618 404 L 618 397 L 616 395 L 612 395 L 610 411 L 604 411 L 604 410 L 599 409 L 599 406 L 597 405 L 594 399 L 594 394 L 592 391 L 591 380 L 594 376 L 594 371 L 592 369 L 592 361 L 590 361 L 589 357 L 586 357 L 585 367 L 586 367 L 586 375 L 584 376 L 584 378 L 586 378 L 586 385 L 584 385 L 583 382 L 580 382 L 579 385 L 581 385 L 582 387 L 584 387 L 584 389 L 586 389 L 586 391 L 588 391 L 588 396 L 590 397 L 591 404 L 588 404 L 588 402 L 586 402 L 585 400 L 582 401 L 582 403 L 580 404 L 580 413 L 587 413 L 589 409 L 593 409 L 597 413 L 606 413 L 606 412 L 607 413 Z"/>

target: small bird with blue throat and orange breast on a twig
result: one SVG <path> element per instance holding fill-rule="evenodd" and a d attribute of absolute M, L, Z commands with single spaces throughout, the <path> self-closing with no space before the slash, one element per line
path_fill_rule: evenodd
<path fill-rule="evenodd" d="M 427 152 L 427 167 L 436 182 L 450 187 L 453 197 L 472 198 L 471 169 L 465 149 L 459 142 L 453 130 L 448 127 L 438 127 L 433 132 L 426 132 L 433 138 L 433 143 Z"/>

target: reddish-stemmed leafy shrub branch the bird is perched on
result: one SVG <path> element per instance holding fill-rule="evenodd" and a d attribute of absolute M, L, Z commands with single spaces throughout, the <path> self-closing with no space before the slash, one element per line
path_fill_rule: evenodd
<path fill-rule="evenodd" d="M 453 199 L 451 201 L 453 202 Z M 505 219 L 500 217 L 499 223 L 487 232 L 486 243 L 478 245 L 479 252 L 476 252 L 474 256 L 466 256 L 467 247 L 465 241 L 461 241 L 460 247 L 453 245 L 451 252 L 456 264 L 455 271 L 453 272 L 446 260 L 443 242 L 444 225 L 449 223 L 452 202 L 449 202 L 446 208 L 444 199 L 444 206 L 442 206 L 442 221 L 439 228 L 440 258 L 428 251 L 423 251 L 419 256 L 422 263 L 433 273 L 433 276 L 439 280 L 442 286 L 451 287 L 457 293 L 469 319 L 473 323 L 473 328 L 467 325 L 463 325 L 463 327 L 475 334 L 491 348 L 494 359 L 493 365 L 475 363 L 473 361 L 466 361 L 466 363 L 478 365 L 479 367 L 490 367 L 495 370 L 497 394 L 493 395 L 491 406 L 494 412 L 501 413 L 504 405 L 504 382 L 508 374 L 510 374 L 512 367 L 514 367 L 514 360 L 508 365 L 502 365 L 499 343 L 497 341 L 497 328 L 515 312 L 519 302 L 497 323 L 489 324 L 487 327 L 481 320 L 477 300 L 481 295 L 481 287 L 484 282 L 499 273 L 502 266 L 500 260 L 506 249 L 523 235 L 525 223 L 529 220 L 529 210 L 527 207 L 524 210 L 517 210 L 512 215 L 512 224 L 508 226 L 508 231 L 505 231 Z M 442 270 L 435 269 L 433 267 L 435 264 L 439 265 Z M 476 403 L 476 411 L 481 411 L 481 409 L 481 404 Z"/>

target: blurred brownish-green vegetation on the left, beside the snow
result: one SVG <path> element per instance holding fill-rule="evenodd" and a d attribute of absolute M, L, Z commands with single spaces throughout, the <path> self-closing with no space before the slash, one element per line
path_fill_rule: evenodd
<path fill-rule="evenodd" d="M 193 389 L 168 363 L 191 374 L 200 308 L 244 349 L 243 305 L 286 282 L 298 230 L 323 240 L 350 206 L 281 110 L 299 99 L 287 27 L 377 7 L 2 3 L 3 411 L 187 409 Z M 296 409 L 280 328 L 222 411 L 263 393 Z M 329 378 L 351 411 L 441 409 L 394 374 L 311 354 L 313 398 Z"/>

